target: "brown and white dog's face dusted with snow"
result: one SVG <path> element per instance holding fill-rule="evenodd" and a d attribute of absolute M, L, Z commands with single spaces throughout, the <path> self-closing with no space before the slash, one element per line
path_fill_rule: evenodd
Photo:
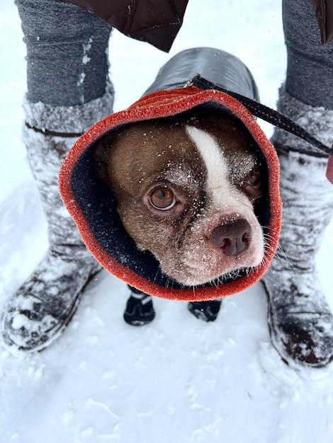
<path fill-rule="evenodd" d="M 101 139 L 95 156 L 126 231 L 166 275 L 191 286 L 261 263 L 256 148 L 231 117 L 137 122 Z"/>

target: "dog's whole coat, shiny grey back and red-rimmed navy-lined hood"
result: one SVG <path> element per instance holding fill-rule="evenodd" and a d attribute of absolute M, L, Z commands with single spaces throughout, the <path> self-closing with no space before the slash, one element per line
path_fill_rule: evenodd
<path fill-rule="evenodd" d="M 215 88 L 202 90 L 191 85 L 189 79 L 197 72 L 213 84 L 249 98 L 258 98 L 251 73 L 237 57 L 212 48 L 181 52 L 162 67 L 156 81 L 142 98 L 128 109 L 96 123 L 77 140 L 64 160 L 59 178 L 64 205 L 77 224 L 86 247 L 108 272 L 147 294 L 187 301 L 218 299 L 257 282 L 271 263 L 281 228 L 279 166 L 275 149 L 252 113 L 239 100 Z M 113 192 L 94 173 L 93 153 L 98 139 L 123 129 L 129 123 L 169 117 L 198 107 L 231 113 L 243 122 L 259 146 L 264 182 L 261 186 L 263 195 L 255 203 L 254 212 L 264 226 L 266 245 L 261 264 L 250 270 L 241 270 L 237 278 L 184 287 L 163 275 L 152 253 L 140 251 L 127 234 L 118 215 Z"/>

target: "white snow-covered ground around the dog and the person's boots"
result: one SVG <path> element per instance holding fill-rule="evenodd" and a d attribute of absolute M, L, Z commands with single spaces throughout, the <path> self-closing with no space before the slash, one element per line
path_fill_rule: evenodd
<path fill-rule="evenodd" d="M 237 55 L 261 101 L 275 105 L 286 69 L 280 1 L 190 0 L 170 54 L 195 46 Z M 0 54 L 1 307 L 47 247 L 21 142 L 25 47 L 13 0 L 0 3 Z M 113 34 L 115 110 L 140 97 L 170 54 Z M 318 265 L 333 306 L 332 249 L 331 224 Z M 281 361 L 260 284 L 225 299 L 211 324 L 156 299 L 155 320 L 133 328 L 122 317 L 126 297 L 125 284 L 102 272 L 50 349 L 17 358 L 0 347 L 1 443 L 333 442 L 333 374 L 313 379 Z"/>

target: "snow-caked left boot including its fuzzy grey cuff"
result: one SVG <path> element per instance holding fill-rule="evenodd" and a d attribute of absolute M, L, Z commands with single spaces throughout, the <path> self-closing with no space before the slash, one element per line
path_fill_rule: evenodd
<path fill-rule="evenodd" d="M 71 108 L 25 103 L 23 141 L 47 219 L 49 249 L 35 272 L 4 305 L 2 341 L 14 354 L 43 350 L 58 338 L 76 311 L 87 282 L 101 270 L 62 204 L 57 177 L 79 133 L 87 130 L 92 120 L 111 112 L 112 98 L 108 92 L 103 99 Z M 63 133 L 38 129 L 53 120 L 65 122 Z M 54 126 L 58 129 L 56 123 Z"/>

